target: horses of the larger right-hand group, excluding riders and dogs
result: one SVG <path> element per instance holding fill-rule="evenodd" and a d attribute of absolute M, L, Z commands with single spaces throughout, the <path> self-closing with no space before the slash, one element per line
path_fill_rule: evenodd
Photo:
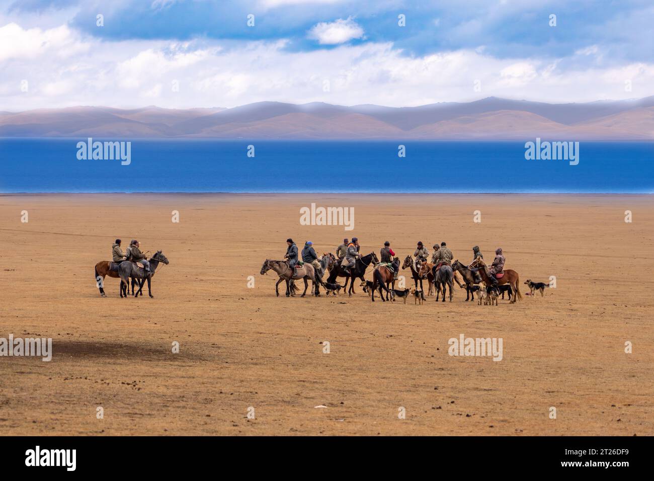
<path fill-rule="evenodd" d="M 322 257 L 318 258 L 320 262 L 321 272 L 316 272 L 316 269 L 311 264 L 303 264 L 302 266 L 296 266 L 296 268 L 291 268 L 288 266 L 286 260 L 270 260 L 266 259 L 261 268 L 260 274 L 266 274 L 269 270 L 272 270 L 279 276 L 277 283 L 275 284 L 275 294 L 279 297 L 279 284 L 283 281 L 286 282 L 286 297 L 292 296 L 297 292 L 297 287 L 294 283 L 295 280 L 303 279 L 304 281 L 304 291 L 301 294 L 301 297 L 305 296 L 307 293 L 307 288 L 309 281 L 313 283 L 313 293 L 318 296 L 320 295 L 320 290 L 318 286 L 326 287 L 328 284 L 336 283 L 339 277 L 345 277 L 345 289 L 347 293 L 351 296 L 354 293 L 354 281 L 360 279 L 362 285 L 365 285 L 366 279 L 364 278 L 366 270 L 370 266 L 373 266 L 373 281 L 371 288 L 371 300 L 375 301 L 375 291 L 379 291 L 379 296 L 384 302 L 389 300 L 389 296 L 392 289 L 395 289 L 395 280 L 393 276 L 392 268 L 387 266 L 379 265 L 379 258 L 374 252 L 371 252 L 368 255 L 358 257 L 353 267 L 343 268 L 339 260 L 336 259 L 332 253 L 324 253 Z M 397 269 L 400 267 L 400 258 L 395 257 L 392 264 Z M 402 269 L 411 269 L 411 278 L 415 283 L 416 291 L 421 291 L 422 281 L 426 280 L 428 282 L 428 296 L 436 294 L 436 300 L 439 300 L 439 297 L 443 296 L 442 302 L 445 302 L 446 290 L 449 287 L 449 300 L 452 302 L 453 297 L 453 287 L 456 282 L 459 287 L 466 289 L 466 301 L 474 300 L 474 290 L 473 286 L 475 285 L 475 276 L 472 271 L 473 268 L 477 268 L 477 272 L 481 276 L 481 280 L 486 285 L 491 285 L 492 280 L 490 279 L 490 274 L 487 272 L 487 266 L 481 257 L 477 257 L 473 260 L 472 264 L 466 266 L 462 262 L 455 260 L 452 262 L 451 266 L 446 264 L 436 266 L 430 262 L 422 262 L 420 259 L 414 259 L 410 255 L 407 255 L 402 264 Z M 327 281 L 325 282 L 322 277 L 327 273 Z M 458 275 L 462 277 L 462 281 L 459 281 Z M 523 296 L 520 293 L 519 287 L 519 276 L 515 270 L 505 269 L 502 273 L 502 276 L 498 276 L 498 285 L 508 284 L 511 286 L 511 293 L 509 294 L 509 299 L 511 304 L 515 303 L 518 299 L 522 299 Z M 348 285 L 349 283 L 349 285 Z M 386 294 L 386 295 L 384 295 Z M 386 298 L 385 298 L 386 297 Z"/>

